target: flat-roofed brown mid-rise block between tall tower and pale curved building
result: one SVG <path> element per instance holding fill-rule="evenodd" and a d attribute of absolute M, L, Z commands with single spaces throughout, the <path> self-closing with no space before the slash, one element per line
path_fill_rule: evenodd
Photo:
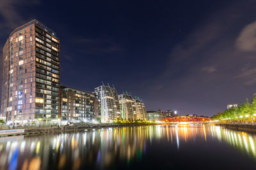
<path fill-rule="evenodd" d="M 92 122 L 100 113 L 100 99 L 95 94 L 71 87 L 60 87 L 61 119 Z"/>

